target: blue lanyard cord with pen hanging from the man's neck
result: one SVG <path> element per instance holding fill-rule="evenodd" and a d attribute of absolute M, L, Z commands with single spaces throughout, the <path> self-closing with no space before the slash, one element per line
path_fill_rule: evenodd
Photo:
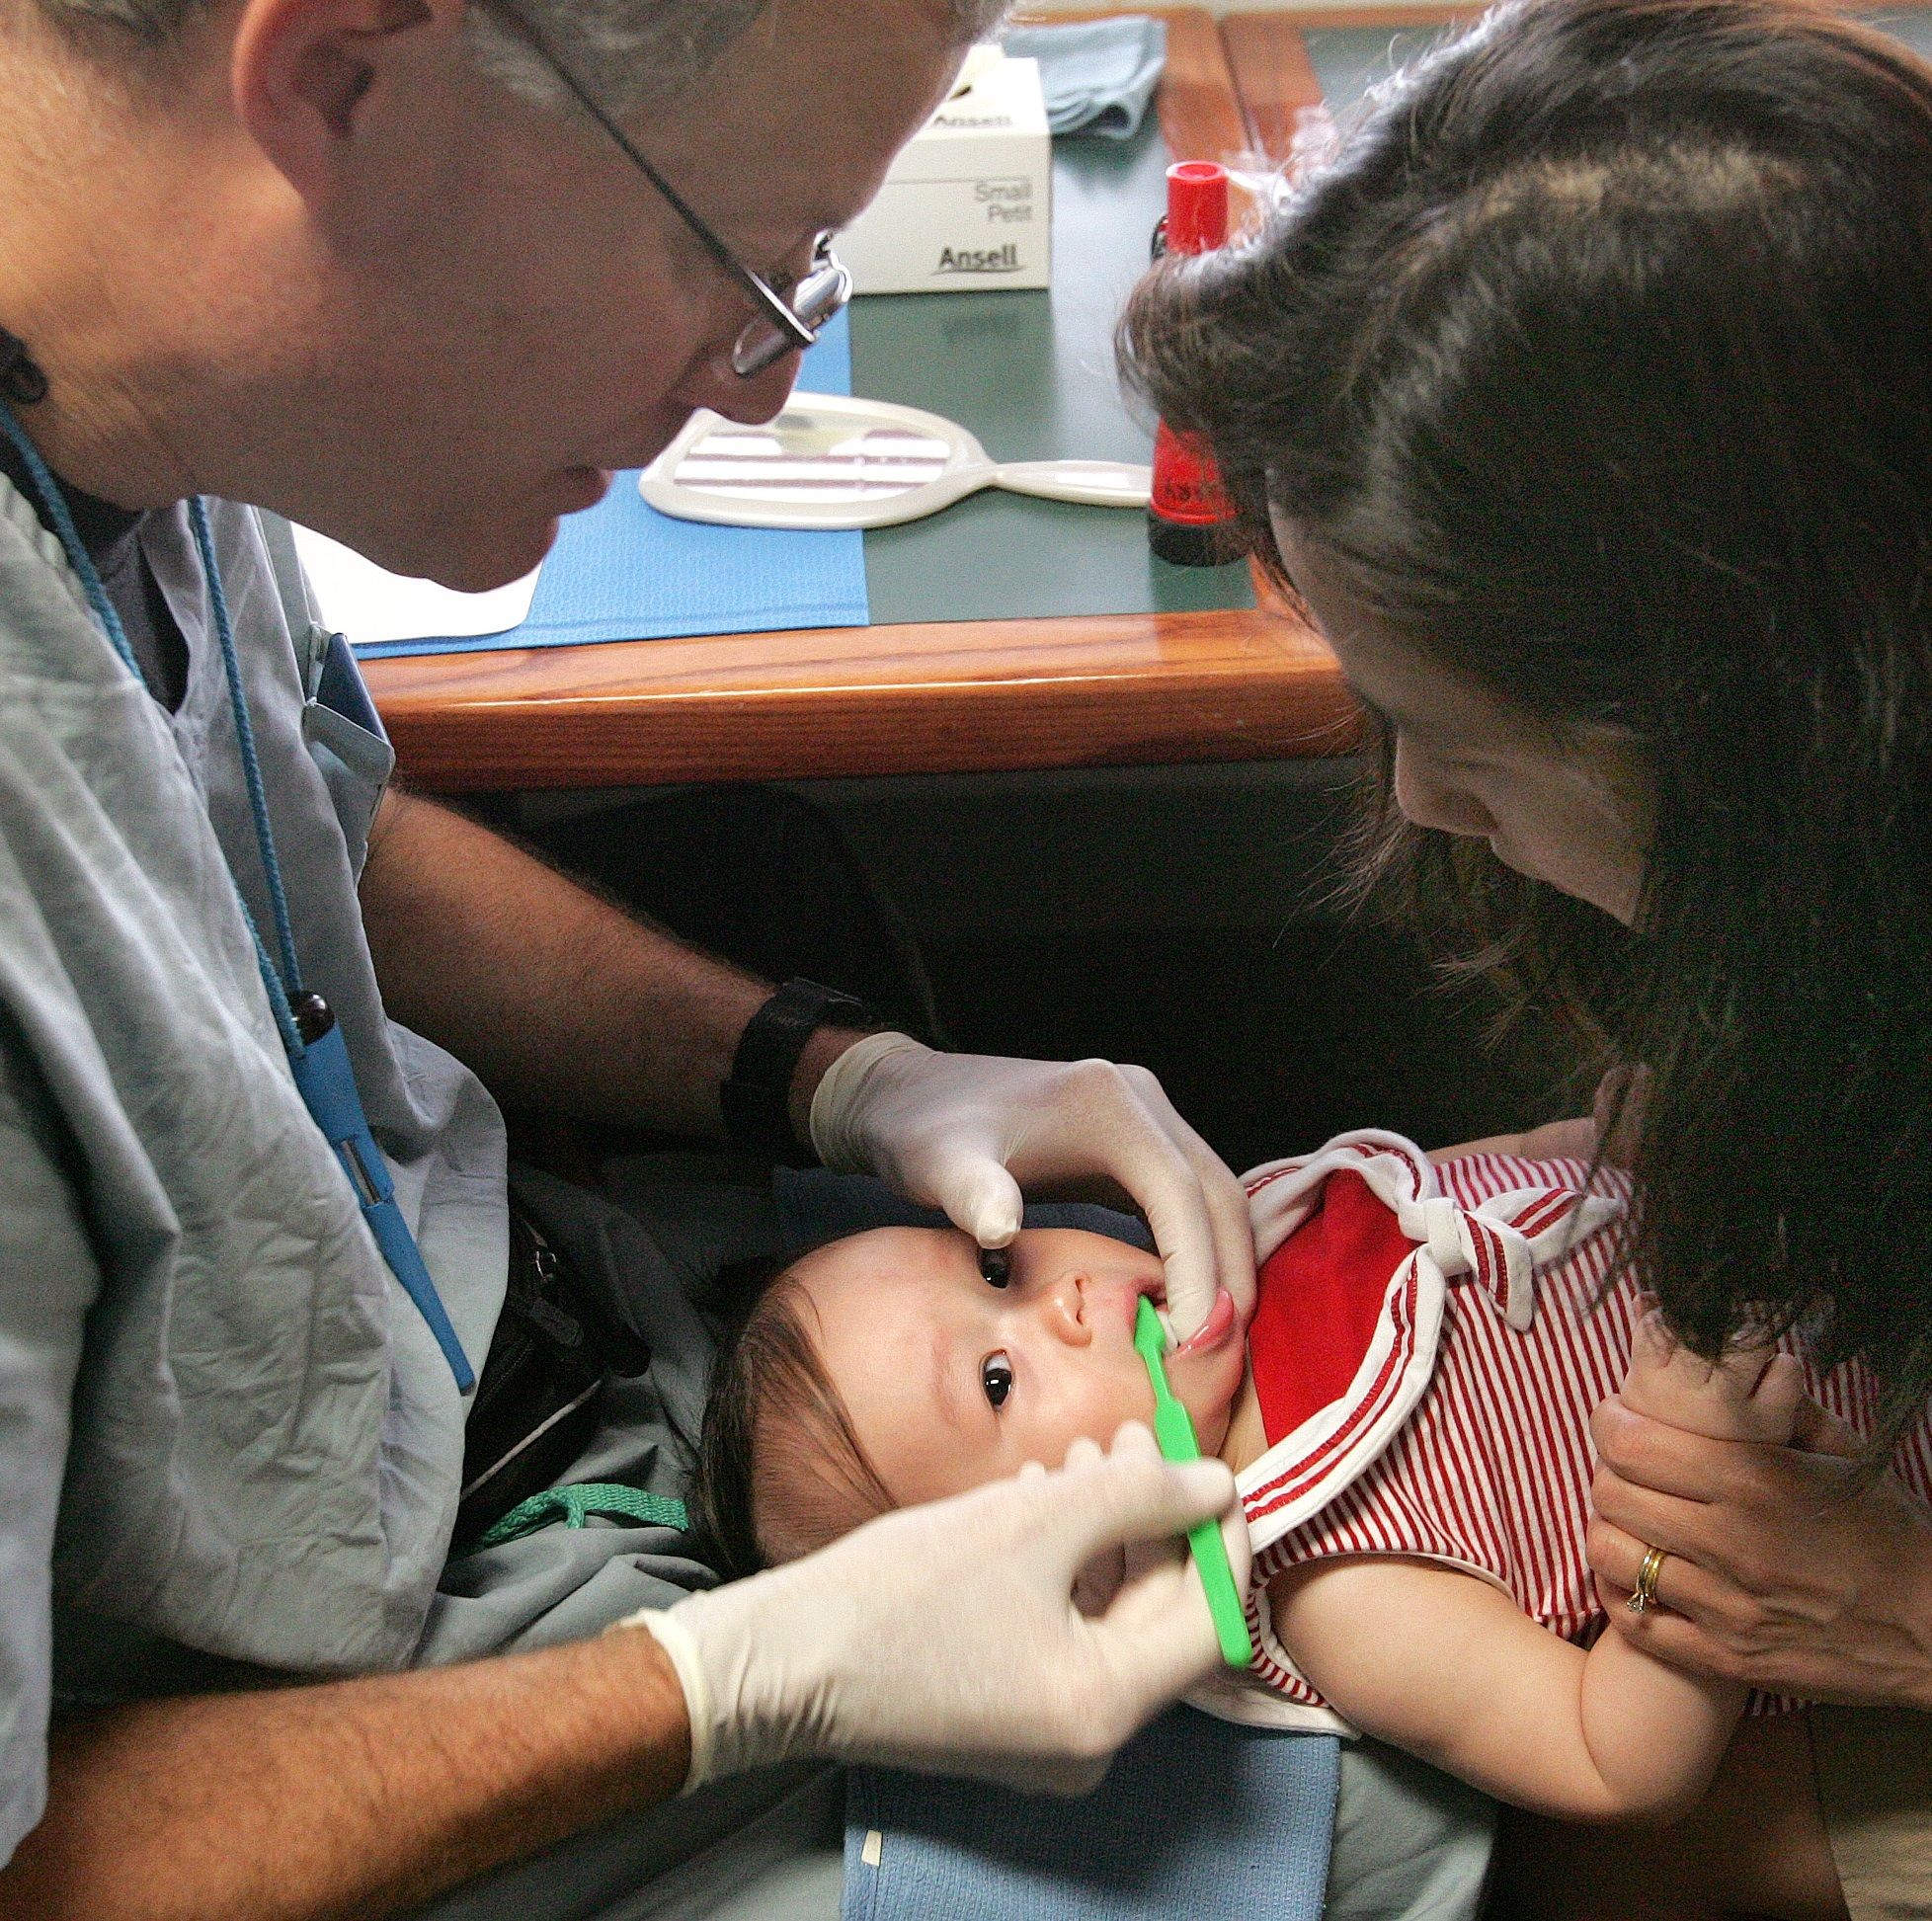
<path fill-rule="evenodd" d="M 0 400 L 0 429 L 6 429 L 6 437 L 19 448 L 27 472 L 33 475 L 33 483 L 46 502 L 46 510 L 54 520 L 54 531 L 60 535 L 60 545 L 68 551 L 68 564 L 79 576 L 81 591 L 87 595 L 87 605 L 93 607 L 95 618 L 106 630 L 108 642 L 128 665 L 128 671 L 137 682 L 143 680 L 141 665 L 128 644 L 128 628 L 122 626 L 122 616 L 108 599 L 100 570 L 81 545 L 81 533 L 73 524 L 66 495 L 60 491 L 60 481 L 54 479 L 39 448 L 27 439 L 14 417 L 14 410 L 4 400 Z M 410 1223 L 404 1219 L 402 1208 L 396 1206 L 396 1187 L 390 1181 L 383 1150 L 369 1133 L 369 1121 L 363 1115 L 361 1096 L 355 1092 L 355 1071 L 350 1065 L 342 1028 L 334 1017 L 327 1015 L 321 1001 L 315 1001 L 315 1011 L 323 1015 L 325 1024 L 319 1030 L 311 1028 L 313 1040 L 303 1042 L 301 1030 L 296 1026 L 290 995 L 311 1001 L 313 995 L 303 997 L 301 993 L 301 968 L 296 959 L 296 932 L 288 914 L 288 891 L 282 887 L 282 864 L 274 856 L 269 790 L 255 754 L 255 727 L 249 721 L 247 694 L 242 688 L 242 657 L 236 649 L 234 624 L 228 618 L 228 593 L 222 588 L 222 570 L 214 559 L 214 533 L 209 528 L 207 501 L 189 501 L 187 518 L 195 530 L 195 547 L 201 551 L 201 572 L 209 584 L 209 613 L 213 615 L 214 634 L 222 647 L 222 673 L 228 676 L 228 705 L 236 721 L 236 748 L 242 760 L 242 777 L 247 785 L 249 814 L 255 821 L 255 845 L 261 848 L 261 872 L 269 885 L 274 937 L 282 949 L 282 966 L 286 968 L 284 984 L 282 974 L 274 970 L 274 962 L 269 959 L 269 949 L 263 945 L 255 916 L 247 910 L 242 889 L 236 887 L 236 906 L 242 908 L 242 920 L 247 926 L 249 939 L 255 943 L 255 962 L 261 968 L 261 984 L 269 993 L 269 1011 L 274 1015 L 282 1046 L 288 1049 L 288 1065 L 296 1076 L 301 1104 L 323 1131 L 323 1138 L 334 1148 L 336 1160 L 342 1163 L 342 1171 L 355 1192 L 363 1219 L 369 1223 L 369 1233 L 375 1237 L 390 1272 L 402 1283 L 404 1293 L 408 1293 L 429 1324 L 429 1332 L 435 1335 L 437 1345 L 450 1364 L 450 1372 L 456 1376 L 458 1391 L 468 1393 L 475 1386 L 475 1372 L 464 1357 L 462 1341 L 458 1341 L 456 1330 L 450 1326 L 450 1316 L 437 1295 L 437 1283 L 429 1277 L 429 1268 L 423 1264 L 421 1248 L 417 1248 L 415 1237 L 410 1233 Z"/>

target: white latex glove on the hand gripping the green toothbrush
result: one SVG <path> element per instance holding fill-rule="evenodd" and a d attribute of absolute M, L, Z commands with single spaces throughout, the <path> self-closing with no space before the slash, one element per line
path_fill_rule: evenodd
<path fill-rule="evenodd" d="M 1229 1507 L 1219 1461 L 1169 1467 L 1153 1436 L 1076 1449 L 831 1548 L 645 1610 L 692 1716 L 686 1790 L 802 1755 L 1082 1793 L 1115 1749 L 1217 1656 L 1200 1577 L 1163 1540 Z M 1246 1529 L 1238 1531 L 1246 1579 Z M 1105 1614 L 1074 1606 L 1084 1563 L 1130 1573 Z"/>

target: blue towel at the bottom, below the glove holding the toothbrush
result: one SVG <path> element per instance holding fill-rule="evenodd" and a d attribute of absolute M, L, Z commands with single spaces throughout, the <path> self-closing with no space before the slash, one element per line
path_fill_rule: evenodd
<path fill-rule="evenodd" d="M 842 1921 L 1318 1921 L 1339 1782 L 1333 1735 L 1192 1708 L 1078 1801 L 854 1768 Z"/>

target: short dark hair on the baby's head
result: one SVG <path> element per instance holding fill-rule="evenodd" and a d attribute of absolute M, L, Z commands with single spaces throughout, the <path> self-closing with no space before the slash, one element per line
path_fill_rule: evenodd
<path fill-rule="evenodd" d="M 815 1250 L 813 1250 L 815 1252 Z M 798 1560 L 895 1505 L 811 1339 L 804 1254 L 726 1268 L 732 1301 L 692 1519 L 726 1579 Z"/>

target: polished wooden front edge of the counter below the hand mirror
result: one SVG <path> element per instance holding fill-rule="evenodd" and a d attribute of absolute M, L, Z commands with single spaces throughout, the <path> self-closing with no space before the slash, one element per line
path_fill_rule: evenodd
<path fill-rule="evenodd" d="M 558 655 L 566 659 L 558 659 Z M 442 792 L 1343 754 L 1329 651 L 1267 613 L 964 620 L 371 661 Z"/>

